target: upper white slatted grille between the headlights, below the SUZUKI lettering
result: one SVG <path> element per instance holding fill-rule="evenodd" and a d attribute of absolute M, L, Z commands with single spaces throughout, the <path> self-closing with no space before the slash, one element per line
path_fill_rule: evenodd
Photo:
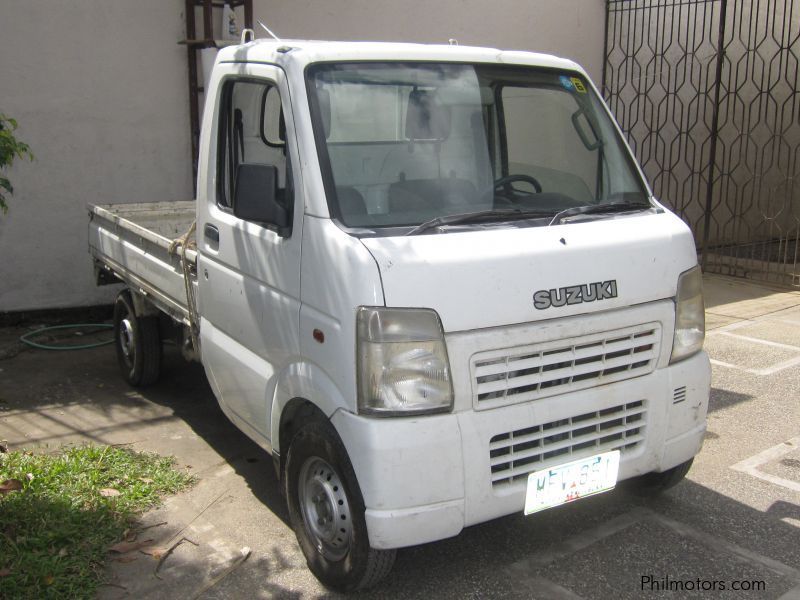
<path fill-rule="evenodd" d="M 647 323 L 472 359 L 474 405 L 505 406 L 646 375 L 655 369 L 661 327 Z"/>

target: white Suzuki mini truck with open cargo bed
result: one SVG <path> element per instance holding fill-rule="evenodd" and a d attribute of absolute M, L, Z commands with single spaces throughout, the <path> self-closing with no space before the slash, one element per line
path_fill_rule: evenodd
<path fill-rule="evenodd" d="M 90 218 L 125 378 L 153 383 L 168 338 L 202 362 L 332 589 L 469 525 L 665 489 L 701 447 L 692 234 L 571 61 L 230 47 L 197 200 Z"/>

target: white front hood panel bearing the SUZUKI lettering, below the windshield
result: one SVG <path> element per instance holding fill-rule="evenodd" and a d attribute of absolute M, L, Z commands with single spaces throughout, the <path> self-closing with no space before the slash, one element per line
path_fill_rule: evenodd
<path fill-rule="evenodd" d="M 432 308 L 446 332 L 671 298 L 697 263 L 689 228 L 669 212 L 362 242 L 386 306 Z"/>

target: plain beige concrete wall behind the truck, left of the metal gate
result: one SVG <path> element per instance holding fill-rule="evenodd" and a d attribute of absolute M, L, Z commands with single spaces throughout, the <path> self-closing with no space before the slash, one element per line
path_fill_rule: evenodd
<path fill-rule="evenodd" d="M 602 69 L 603 0 L 254 4 L 256 18 L 286 38 L 456 38 L 574 58 L 598 81 Z M 16 193 L 0 216 L 0 312 L 111 300 L 92 279 L 87 203 L 191 197 L 186 51 L 176 44 L 183 7 L 0 1 L 0 112 L 19 121 L 36 154 L 9 173 Z"/>

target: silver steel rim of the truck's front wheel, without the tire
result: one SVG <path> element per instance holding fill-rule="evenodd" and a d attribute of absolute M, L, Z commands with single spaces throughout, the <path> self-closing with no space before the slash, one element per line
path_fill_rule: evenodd
<path fill-rule="evenodd" d="M 306 531 L 317 550 L 328 560 L 344 558 L 350 550 L 353 527 L 339 474 L 312 456 L 300 469 L 297 491 Z"/>

